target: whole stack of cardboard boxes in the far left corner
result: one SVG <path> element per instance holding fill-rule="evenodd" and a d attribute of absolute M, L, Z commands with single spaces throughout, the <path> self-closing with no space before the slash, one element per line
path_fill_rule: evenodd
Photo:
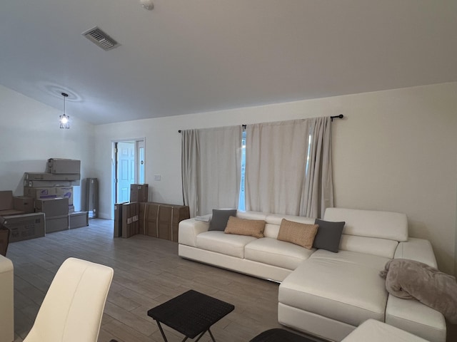
<path fill-rule="evenodd" d="M 80 160 L 51 158 L 46 172 L 24 173 L 24 196 L 0 192 L 0 222 L 11 229 L 11 242 L 89 225 L 87 212 L 74 212 L 80 170 Z"/>

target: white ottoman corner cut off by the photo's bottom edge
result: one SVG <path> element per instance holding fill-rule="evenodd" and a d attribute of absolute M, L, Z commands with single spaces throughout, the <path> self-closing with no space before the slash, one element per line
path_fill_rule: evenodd
<path fill-rule="evenodd" d="M 341 342 L 428 342 L 412 333 L 389 326 L 386 323 L 368 319 L 361 323 Z"/>

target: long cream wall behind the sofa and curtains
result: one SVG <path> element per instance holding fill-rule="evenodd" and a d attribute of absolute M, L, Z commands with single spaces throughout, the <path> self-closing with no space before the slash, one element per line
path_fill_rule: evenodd
<path fill-rule="evenodd" d="M 442 271 L 456 251 L 457 83 L 96 126 L 101 217 L 111 217 L 111 140 L 146 137 L 155 202 L 182 204 L 179 129 L 344 114 L 333 124 L 336 206 L 405 212 Z M 154 181 L 161 175 L 161 181 Z"/>

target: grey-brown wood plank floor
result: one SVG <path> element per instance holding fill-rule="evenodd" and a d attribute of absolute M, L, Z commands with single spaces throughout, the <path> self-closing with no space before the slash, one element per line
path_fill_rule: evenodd
<path fill-rule="evenodd" d="M 59 266 L 76 257 L 111 266 L 114 280 L 106 301 L 99 342 L 163 341 L 146 315 L 152 307 L 194 289 L 235 306 L 216 323 L 216 341 L 249 341 L 278 324 L 278 284 L 181 259 L 178 244 L 144 235 L 113 237 L 113 221 L 91 219 L 89 227 L 47 234 L 9 244 L 14 263 L 15 342 L 23 341 Z M 169 342 L 182 340 L 165 328 Z M 202 342 L 211 338 L 206 334 Z M 448 342 L 457 341 L 457 327 L 448 326 Z"/>

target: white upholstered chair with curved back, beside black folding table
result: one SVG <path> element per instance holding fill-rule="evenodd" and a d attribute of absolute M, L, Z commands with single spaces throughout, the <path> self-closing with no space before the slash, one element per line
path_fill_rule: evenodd
<path fill-rule="evenodd" d="M 66 259 L 24 342 L 96 342 L 113 273 L 108 266 Z"/>

